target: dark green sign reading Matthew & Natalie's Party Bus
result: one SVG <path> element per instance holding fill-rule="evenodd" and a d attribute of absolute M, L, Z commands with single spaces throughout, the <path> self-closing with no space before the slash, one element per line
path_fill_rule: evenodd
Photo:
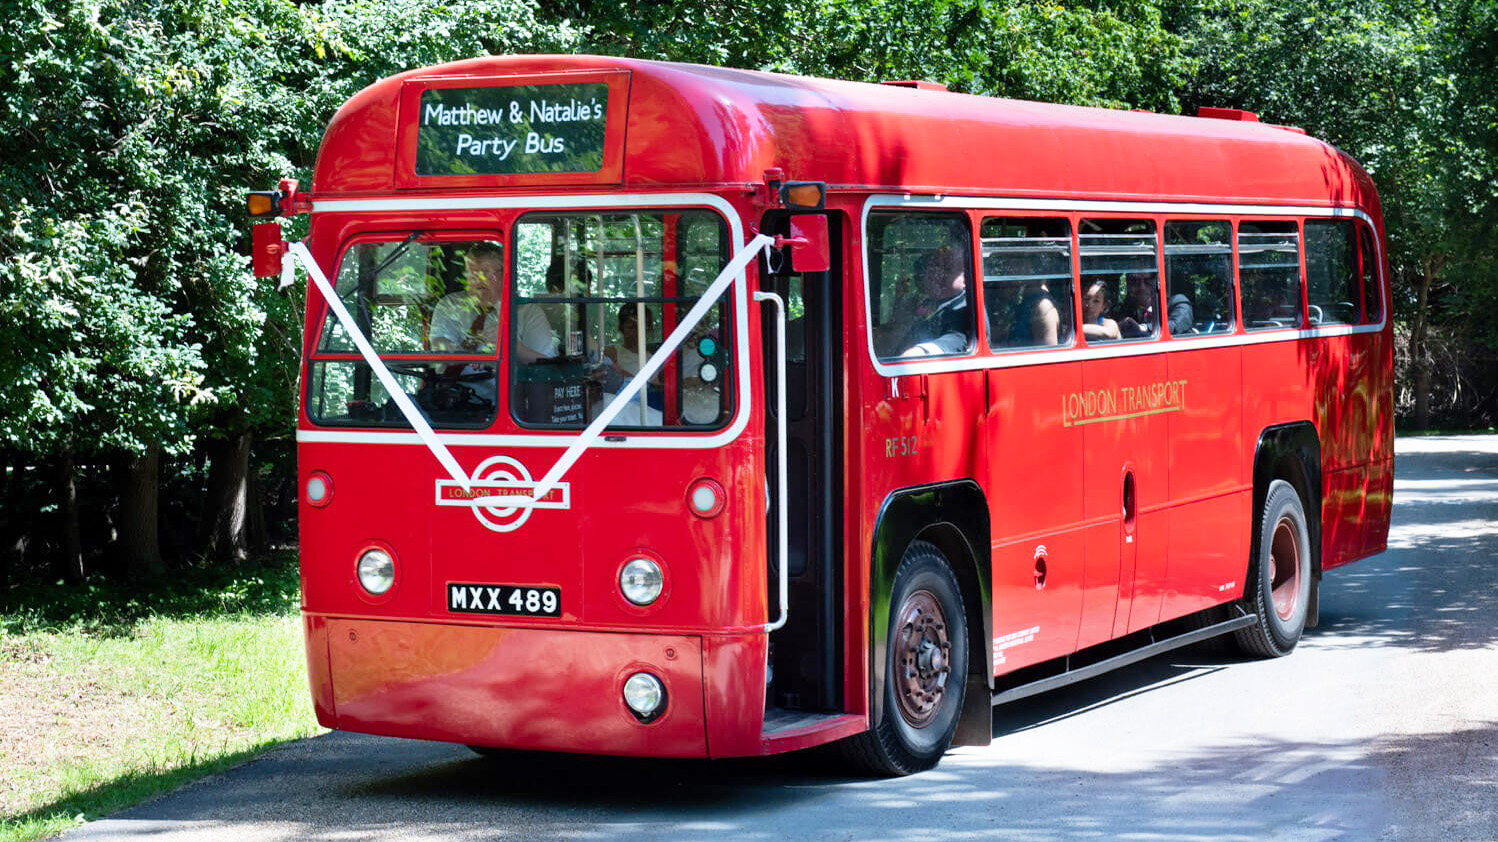
<path fill-rule="evenodd" d="M 416 175 L 596 172 L 607 114 L 607 82 L 427 88 Z"/>

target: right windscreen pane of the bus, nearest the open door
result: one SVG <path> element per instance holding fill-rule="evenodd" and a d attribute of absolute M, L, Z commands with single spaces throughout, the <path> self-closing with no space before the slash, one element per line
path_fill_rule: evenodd
<path fill-rule="evenodd" d="M 641 370 L 728 261 L 710 211 L 527 214 L 515 225 L 509 409 L 583 427 Z M 724 298 L 610 428 L 716 427 L 733 409 Z"/>

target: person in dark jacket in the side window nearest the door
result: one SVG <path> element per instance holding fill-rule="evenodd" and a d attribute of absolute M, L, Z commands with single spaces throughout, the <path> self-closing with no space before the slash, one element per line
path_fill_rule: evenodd
<path fill-rule="evenodd" d="M 879 328 L 881 343 L 893 357 L 935 357 L 968 349 L 968 256 L 956 244 L 942 246 L 915 261 L 920 297 L 896 307 Z"/>

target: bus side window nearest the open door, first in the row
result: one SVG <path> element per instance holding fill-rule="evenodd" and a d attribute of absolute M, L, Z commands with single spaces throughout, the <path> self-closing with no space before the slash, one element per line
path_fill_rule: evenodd
<path fill-rule="evenodd" d="M 974 345 L 972 232 L 957 214 L 869 214 L 869 319 L 879 360 Z"/>

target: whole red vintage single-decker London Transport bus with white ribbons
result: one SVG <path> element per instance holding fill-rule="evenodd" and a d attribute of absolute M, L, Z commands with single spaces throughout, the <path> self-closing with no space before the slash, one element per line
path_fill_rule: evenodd
<path fill-rule="evenodd" d="M 1378 196 L 1251 112 L 475 58 L 250 205 L 330 728 L 911 773 L 1384 548 Z"/>

